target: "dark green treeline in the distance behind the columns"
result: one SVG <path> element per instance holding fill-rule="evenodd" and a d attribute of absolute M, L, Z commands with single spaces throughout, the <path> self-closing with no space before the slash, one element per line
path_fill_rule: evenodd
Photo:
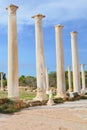
<path fill-rule="evenodd" d="M 85 71 L 85 78 L 86 78 L 86 86 L 87 86 L 87 71 Z M 0 75 L 1 79 L 1 75 Z M 68 89 L 68 71 L 65 71 L 65 82 L 66 82 L 66 89 Z M 81 72 L 80 72 L 80 82 L 82 84 L 82 78 L 81 78 Z M 4 86 L 7 86 L 7 79 L 6 75 L 3 75 L 3 83 Z M 20 76 L 19 77 L 19 86 L 29 86 L 36 88 L 36 77 L 33 76 Z M 49 86 L 50 87 L 57 87 L 57 82 L 56 82 L 56 72 L 50 72 L 49 73 Z M 72 86 L 73 86 L 73 75 L 72 75 Z"/>

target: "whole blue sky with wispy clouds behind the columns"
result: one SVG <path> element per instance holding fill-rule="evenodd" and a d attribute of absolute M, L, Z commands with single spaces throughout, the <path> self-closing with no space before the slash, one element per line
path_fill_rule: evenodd
<path fill-rule="evenodd" d="M 72 65 L 70 32 L 78 32 L 79 63 L 87 64 L 87 0 L 0 0 L 0 71 L 7 73 L 6 7 L 19 6 L 17 11 L 19 75 L 36 75 L 34 20 L 37 13 L 43 19 L 45 62 L 50 71 L 56 70 L 55 24 L 64 25 L 63 44 L 65 69 Z M 87 69 L 87 66 L 85 67 Z"/>

